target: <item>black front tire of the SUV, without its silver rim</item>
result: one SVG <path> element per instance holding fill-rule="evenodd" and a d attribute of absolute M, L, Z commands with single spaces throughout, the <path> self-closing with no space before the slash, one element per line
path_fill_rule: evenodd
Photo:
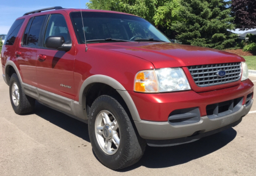
<path fill-rule="evenodd" d="M 99 112 L 107 110 L 115 116 L 120 130 L 120 146 L 113 155 L 106 154 L 96 139 L 95 120 Z M 133 128 L 123 106 L 113 97 L 100 96 L 92 104 L 89 114 L 89 136 L 92 149 L 98 160 L 107 168 L 117 170 L 131 166 L 143 156 L 146 140 L 142 139 Z"/>

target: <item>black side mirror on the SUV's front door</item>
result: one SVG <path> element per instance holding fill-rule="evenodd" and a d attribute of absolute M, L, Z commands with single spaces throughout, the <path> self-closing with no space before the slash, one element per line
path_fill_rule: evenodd
<path fill-rule="evenodd" d="M 45 40 L 45 47 L 59 51 L 69 51 L 72 47 L 72 42 L 65 42 L 63 36 L 49 36 Z"/>

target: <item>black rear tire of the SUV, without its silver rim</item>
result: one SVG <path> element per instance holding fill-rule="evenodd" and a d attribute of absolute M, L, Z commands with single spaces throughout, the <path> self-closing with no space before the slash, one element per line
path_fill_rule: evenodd
<path fill-rule="evenodd" d="M 14 83 L 16 83 L 16 85 L 18 86 L 18 93 L 19 93 L 18 106 L 15 105 L 15 103 L 13 102 L 13 99 L 12 99 L 12 86 Z M 12 103 L 13 111 L 15 111 L 15 113 L 19 114 L 19 115 L 32 112 L 33 109 L 35 108 L 35 99 L 25 95 L 24 91 L 22 90 L 21 83 L 19 82 L 19 78 L 16 73 L 12 74 L 9 85 L 10 85 L 9 86 L 10 100 Z"/>

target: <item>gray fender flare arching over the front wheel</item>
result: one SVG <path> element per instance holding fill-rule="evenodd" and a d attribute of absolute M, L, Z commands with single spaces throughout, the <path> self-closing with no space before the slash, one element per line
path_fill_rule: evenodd
<path fill-rule="evenodd" d="M 114 88 L 120 94 L 120 96 L 123 98 L 124 102 L 126 102 L 126 105 L 129 108 L 130 114 L 132 115 L 132 119 L 134 121 L 141 121 L 138 110 L 135 106 L 135 103 L 132 100 L 132 97 L 130 97 L 130 94 L 126 91 L 126 89 L 124 88 L 123 85 L 121 85 L 120 82 L 118 82 L 117 80 L 115 80 L 109 76 L 96 74 L 96 75 L 90 76 L 86 80 L 84 80 L 84 82 L 80 88 L 80 91 L 79 91 L 79 104 L 80 105 L 82 105 L 82 103 L 83 103 L 83 93 L 84 93 L 84 90 L 86 89 L 86 87 L 88 85 L 90 85 L 91 83 L 96 83 L 96 82 L 104 83 L 104 84 L 109 85 L 112 88 Z"/>

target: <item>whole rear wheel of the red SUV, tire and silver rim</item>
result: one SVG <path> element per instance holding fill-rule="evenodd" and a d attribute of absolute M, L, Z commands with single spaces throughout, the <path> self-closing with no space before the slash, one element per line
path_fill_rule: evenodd
<path fill-rule="evenodd" d="M 25 95 L 16 73 L 13 73 L 10 79 L 9 93 L 12 107 L 16 114 L 27 114 L 33 111 L 35 99 Z"/>

